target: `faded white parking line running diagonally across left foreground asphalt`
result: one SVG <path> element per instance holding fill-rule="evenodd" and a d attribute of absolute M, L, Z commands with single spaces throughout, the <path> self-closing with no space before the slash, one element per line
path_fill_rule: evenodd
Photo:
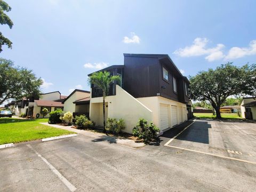
<path fill-rule="evenodd" d="M 51 171 L 53 173 L 55 173 L 57 175 L 57 177 L 64 183 L 64 185 L 67 186 L 67 188 L 70 190 L 70 191 L 75 191 L 76 190 L 76 187 L 74 185 L 72 185 L 57 169 L 55 169 L 54 166 L 52 166 L 52 164 L 50 164 L 42 155 L 40 155 L 35 149 L 33 149 L 33 147 L 31 147 L 30 145 L 27 145 L 31 150 L 33 150 L 36 155 L 38 157 L 40 157 L 45 163 L 47 166 L 50 167 Z"/>

